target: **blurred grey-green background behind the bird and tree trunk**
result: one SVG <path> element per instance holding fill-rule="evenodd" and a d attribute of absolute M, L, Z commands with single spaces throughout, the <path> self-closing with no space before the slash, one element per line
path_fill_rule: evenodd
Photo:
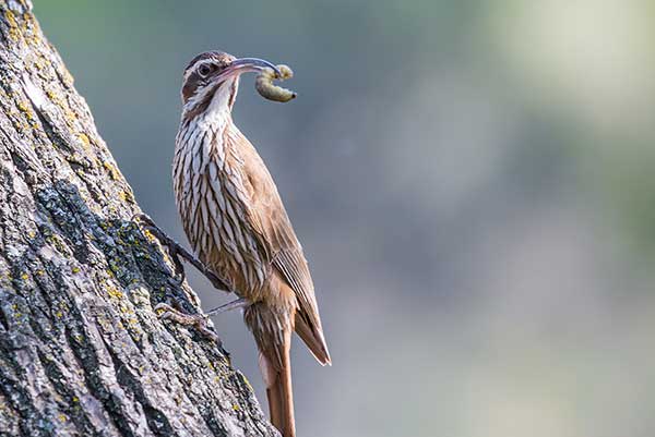
<path fill-rule="evenodd" d="M 46 1 L 141 206 L 171 191 L 181 72 L 245 77 L 235 120 L 310 259 L 334 366 L 296 341 L 300 435 L 655 435 L 655 3 Z M 225 302 L 193 276 L 203 306 Z M 238 313 L 215 318 L 265 398 Z M 265 405 L 265 402 L 264 402 Z"/>

